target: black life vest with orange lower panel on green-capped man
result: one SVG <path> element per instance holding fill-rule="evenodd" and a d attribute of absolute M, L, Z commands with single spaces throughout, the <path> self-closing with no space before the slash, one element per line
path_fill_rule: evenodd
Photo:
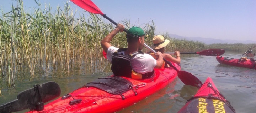
<path fill-rule="evenodd" d="M 126 50 L 126 48 L 120 48 L 112 55 L 111 70 L 115 76 L 123 76 L 133 79 L 145 79 L 154 75 L 154 70 L 145 74 L 135 72 L 130 65 L 130 59 L 135 57 L 137 54 L 144 53 L 139 50 L 133 54 L 123 55 L 122 52 Z"/>

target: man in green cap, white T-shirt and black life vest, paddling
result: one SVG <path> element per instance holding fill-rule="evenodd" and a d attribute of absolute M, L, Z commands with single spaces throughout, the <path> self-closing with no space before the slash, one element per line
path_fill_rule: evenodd
<path fill-rule="evenodd" d="M 116 29 L 110 32 L 101 41 L 101 47 L 107 52 L 107 59 L 111 61 L 111 70 L 115 76 L 124 76 L 134 79 L 145 79 L 154 75 L 154 68 L 161 68 L 163 64 L 162 53 L 157 52 L 155 60 L 151 55 L 142 51 L 144 31 L 142 28 L 132 27 L 127 31 L 127 48 L 116 48 L 110 44 L 112 38 L 123 32 L 124 25 L 118 24 Z"/>

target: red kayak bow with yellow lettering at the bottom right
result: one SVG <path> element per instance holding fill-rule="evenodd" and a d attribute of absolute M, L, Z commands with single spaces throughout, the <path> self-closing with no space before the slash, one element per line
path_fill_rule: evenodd
<path fill-rule="evenodd" d="M 235 113 L 235 109 L 208 77 L 196 95 L 178 113 Z"/>

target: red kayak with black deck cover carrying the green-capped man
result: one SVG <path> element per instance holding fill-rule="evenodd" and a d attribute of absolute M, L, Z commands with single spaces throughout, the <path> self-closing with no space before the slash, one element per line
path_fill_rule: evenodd
<path fill-rule="evenodd" d="M 172 64 L 180 70 L 178 64 Z M 98 78 L 44 105 L 43 110 L 28 113 L 113 113 L 163 89 L 177 77 L 177 71 L 172 67 L 154 71 L 148 79 Z"/>

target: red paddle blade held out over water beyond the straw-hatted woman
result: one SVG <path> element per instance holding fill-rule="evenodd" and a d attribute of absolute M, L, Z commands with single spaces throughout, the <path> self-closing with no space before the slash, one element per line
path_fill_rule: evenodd
<path fill-rule="evenodd" d="M 204 55 L 204 56 L 220 56 L 225 53 L 225 50 L 223 49 L 207 49 L 203 50 L 201 52 L 196 52 L 199 55 Z"/>

